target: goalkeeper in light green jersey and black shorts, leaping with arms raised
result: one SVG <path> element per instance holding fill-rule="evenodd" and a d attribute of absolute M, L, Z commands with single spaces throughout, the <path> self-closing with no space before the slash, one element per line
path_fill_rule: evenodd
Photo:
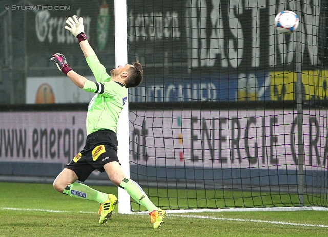
<path fill-rule="evenodd" d="M 136 87 L 142 82 L 143 71 L 139 62 L 132 65 L 119 65 L 107 74 L 100 64 L 84 33 L 83 19 L 77 16 L 66 20 L 69 30 L 77 37 L 86 61 L 96 81 L 93 82 L 73 71 L 63 54 L 56 53 L 51 57 L 65 75 L 81 89 L 95 93 L 87 113 L 87 139 L 83 150 L 66 165 L 53 182 L 54 188 L 63 194 L 75 198 L 94 200 L 100 203 L 99 224 L 110 219 L 117 204 L 115 195 L 99 192 L 89 186 L 77 183 L 84 182 L 94 170 L 106 172 L 109 179 L 117 186 L 124 188 L 128 194 L 149 211 L 153 228 L 157 229 L 165 216 L 165 211 L 157 208 L 144 190 L 133 180 L 124 175 L 117 157 L 117 121 L 126 102 L 129 87 Z"/>

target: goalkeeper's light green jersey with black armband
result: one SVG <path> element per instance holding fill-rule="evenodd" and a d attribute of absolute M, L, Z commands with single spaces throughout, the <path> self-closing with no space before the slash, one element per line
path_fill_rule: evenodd
<path fill-rule="evenodd" d="M 87 57 L 86 61 L 97 80 L 86 80 L 83 87 L 84 91 L 96 93 L 88 107 L 87 135 L 104 129 L 116 133 L 118 117 L 127 100 L 128 90 L 123 84 L 110 81 L 110 75 L 96 55 Z"/>

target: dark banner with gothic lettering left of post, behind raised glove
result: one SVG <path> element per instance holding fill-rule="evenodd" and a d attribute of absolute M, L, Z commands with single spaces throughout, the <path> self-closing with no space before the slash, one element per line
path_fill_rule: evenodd
<path fill-rule="evenodd" d="M 30 5 L 12 5 L 27 10 L 27 50 L 30 53 L 80 53 L 76 37 L 64 27 L 69 16 L 83 17 L 85 33 L 97 52 L 114 52 L 114 8 L 100 1 L 30 1 Z"/>

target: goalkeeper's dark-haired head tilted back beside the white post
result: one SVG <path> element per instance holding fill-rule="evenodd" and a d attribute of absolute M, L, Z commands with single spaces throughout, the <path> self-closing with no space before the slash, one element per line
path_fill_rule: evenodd
<path fill-rule="evenodd" d="M 110 73 L 114 80 L 115 78 L 120 77 L 126 88 L 140 85 L 144 78 L 144 71 L 138 61 L 124 66 L 120 65 L 117 68 L 112 69 Z"/>

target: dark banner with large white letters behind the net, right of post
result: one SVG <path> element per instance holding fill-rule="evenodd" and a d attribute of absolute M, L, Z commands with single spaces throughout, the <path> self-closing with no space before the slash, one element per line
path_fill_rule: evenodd
<path fill-rule="evenodd" d="M 292 70 L 299 32 L 279 34 L 275 16 L 283 10 L 296 11 L 295 2 L 128 0 L 129 53 L 145 55 L 146 65 L 154 67 L 188 63 L 192 69 L 209 67 L 221 72 Z M 297 31 L 301 31 L 302 63 L 309 67 L 322 65 L 324 60 L 325 3 L 300 1 L 303 10 Z"/>

